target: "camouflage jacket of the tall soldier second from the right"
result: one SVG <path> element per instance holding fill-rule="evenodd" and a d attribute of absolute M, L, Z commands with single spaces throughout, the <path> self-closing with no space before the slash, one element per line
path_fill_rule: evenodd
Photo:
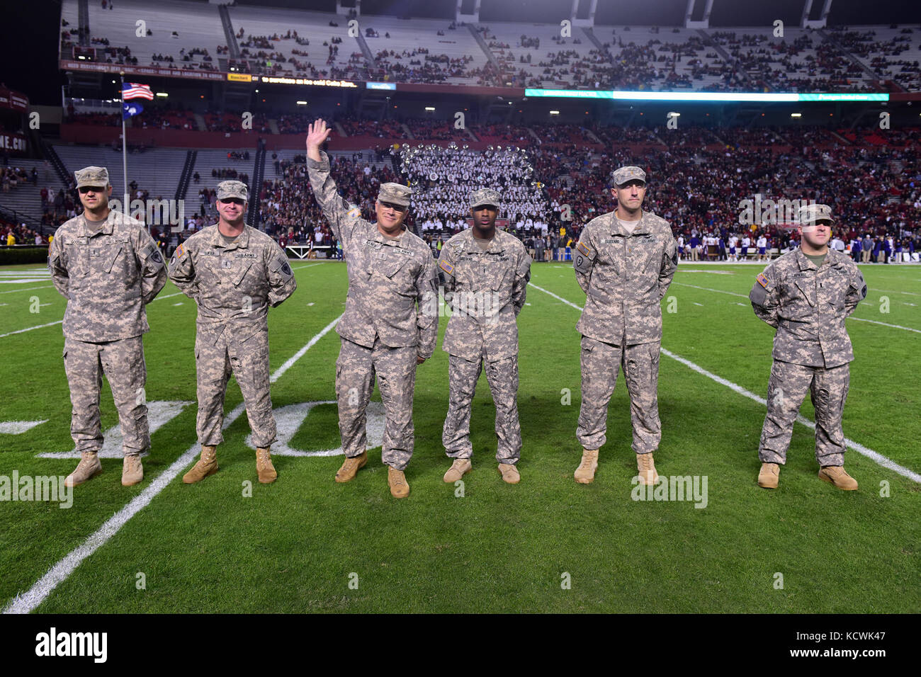
<path fill-rule="evenodd" d="M 677 251 L 669 222 L 651 212 L 643 212 L 630 235 L 614 212 L 589 221 L 573 250 L 587 297 L 579 333 L 613 345 L 660 341 L 659 301 L 678 267 Z"/>

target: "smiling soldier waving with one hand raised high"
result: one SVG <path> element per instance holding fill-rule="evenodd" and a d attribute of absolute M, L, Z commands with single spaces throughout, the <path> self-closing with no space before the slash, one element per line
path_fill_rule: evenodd
<path fill-rule="evenodd" d="M 345 313 L 336 325 L 345 461 L 335 479 L 348 482 L 367 463 L 365 412 L 377 376 L 386 419 L 381 457 L 391 495 L 403 498 L 409 496 L 404 471 L 413 457 L 415 368 L 432 356 L 438 335 L 436 265 L 426 243 L 403 225 L 413 193 L 408 186 L 381 184 L 375 223 L 336 193 L 330 160 L 320 150 L 331 131 L 322 120 L 309 125 L 307 168 L 348 271 Z"/>

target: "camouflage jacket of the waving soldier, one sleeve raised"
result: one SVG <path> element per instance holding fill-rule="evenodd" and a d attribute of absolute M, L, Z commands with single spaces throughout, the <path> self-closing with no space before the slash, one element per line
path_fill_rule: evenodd
<path fill-rule="evenodd" d="M 376 337 L 391 348 L 418 346 L 432 356 L 438 337 L 437 273 L 432 251 L 418 236 L 404 230 L 399 239 L 385 238 L 361 210 L 336 193 L 330 160 L 307 158 L 310 186 L 342 242 L 348 270 L 345 314 L 336 333 L 371 347 Z"/>

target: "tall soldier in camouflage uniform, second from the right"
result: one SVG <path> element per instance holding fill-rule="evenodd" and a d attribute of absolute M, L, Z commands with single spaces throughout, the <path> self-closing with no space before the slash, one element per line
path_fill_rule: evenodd
<path fill-rule="evenodd" d="M 630 393 L 633 449 L 643 484 L 659 475 L 652 452 L 659 448 L 659 301 L 678 267 L 677 244 L 669 222 L 643 211 L 646 172 L 622 167 L 612 172 L 617 209 L 592 219 L 582 230 L 573 256 L 576 279 L 586 293 L 576 328 L 582 334 L 582 407 L 576 437 L 582 461 L 576 481 L 589 484 L 605 442 L 608 403 L 619 367 Z"/>

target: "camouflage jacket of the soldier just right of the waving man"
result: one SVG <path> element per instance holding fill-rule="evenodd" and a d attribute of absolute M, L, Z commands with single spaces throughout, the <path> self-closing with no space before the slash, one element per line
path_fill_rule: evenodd
<path fill-rule="evenodd" d="M 530 280 L 530 255 L 518 238 L 496 228 L 483 251 L 468 228 L 441 248 L 438 267 L 445 279 L 451 316 L 441 348 L 450 355 L 488 361 L 518 355 L 518 317 Z"/>

